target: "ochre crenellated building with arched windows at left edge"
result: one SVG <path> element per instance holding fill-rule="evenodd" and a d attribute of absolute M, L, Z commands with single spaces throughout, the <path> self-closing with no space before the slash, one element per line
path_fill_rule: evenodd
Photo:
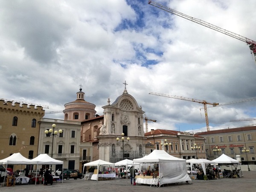
<path fill-rule="evenodd" d="M 32 159 L 38 154 L 39 121 L 44 116 L 41 106 L 0 100 L 0 159 L 20 153 Z M 25 166 L 9 167 L 14 171 Z"/>

